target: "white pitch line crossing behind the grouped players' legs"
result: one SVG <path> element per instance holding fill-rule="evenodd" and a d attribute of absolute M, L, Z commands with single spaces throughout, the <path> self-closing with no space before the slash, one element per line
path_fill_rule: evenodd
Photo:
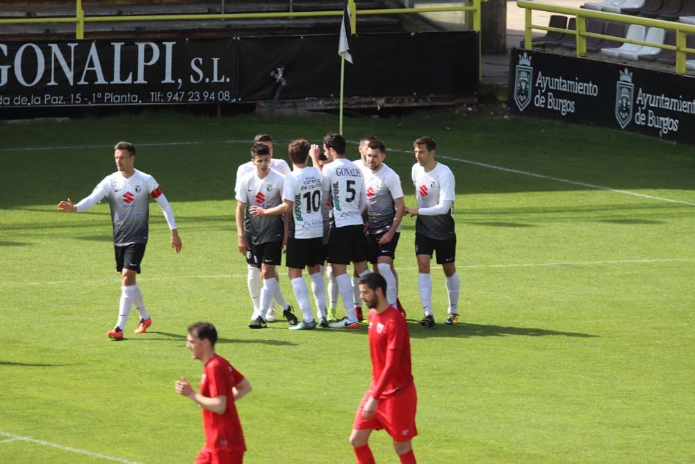
<path fill-rule="evenodd" d="M 664 258 L 664 259 L 607 259 L 603 261 L 565 261 L 565 262 L 546 262 L 546 263 L 511 263 L 511 264 L 463 264 L 456 266 L 457 269 L 504 269 L 515 267 L 552 267 L 552 266 L 603 266 L 605 264 L 658 264 L 658 263 L 673 263 L 673 262 L 695 262 L 695 258 Z M 436 269 L 436 265 L 433 265 Z M 417 267 L 398 267 L 399 271 L 417 271 Z M 245 278 L 246 274 L 220 274 L 220 275 L 175 275 L 170 277 L 152 277 L 138 278 L 139 281 L 152 280 L 185 280 L 185 279 L 229 279 L 229 278 Z M 101 284 L 104 282 L 115 283 L 119 282 L 115 279 L 101 280 L 80 280 L 83 284 Z M 15 287 L 30 287 L 40 285 L 75 285 L 74 280 L 53 280 L 45 282 L 3 282 L 3 285 L 13 285 Z"/>

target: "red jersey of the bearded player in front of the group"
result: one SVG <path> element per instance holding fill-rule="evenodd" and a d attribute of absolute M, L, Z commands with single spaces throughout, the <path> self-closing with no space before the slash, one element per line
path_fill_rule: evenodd
<path fill-rule="evenodd" d="M 381 399 L 411 385 L 410 333 L 403 314 L 393 306 L 382 314 L 370 310 L 368 335 L 372 396 Z"/>

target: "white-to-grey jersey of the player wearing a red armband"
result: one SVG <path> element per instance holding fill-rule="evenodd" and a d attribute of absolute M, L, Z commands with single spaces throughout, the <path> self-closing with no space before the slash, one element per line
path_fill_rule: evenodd
<path fill-rule="evenodd" d="M 126 246 L 147 243 L 149 197 L 156 199 L 160 195 L 163 193 L 154 177 L 136 169 L 128 178 L 120 172 L 107 175 L 89 197 L 77 206 L 87 203 L 93 205 L 104 197 L 108 198 L 113 223 L 113 244 Z"/>

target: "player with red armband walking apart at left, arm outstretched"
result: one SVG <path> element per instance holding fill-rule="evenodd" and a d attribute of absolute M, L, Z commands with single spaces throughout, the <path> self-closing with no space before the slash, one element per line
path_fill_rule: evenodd
<path fill-rule="evenodd" d="M 114 147 L 117 172 L 104 177 L 91 195 L 76 205 L 72 204 L 70 198 L 58 203 L 60 211 L 77 213 L 87 211 L 104 197 L 108 198 L 113 223 L 116 270 L 121 273 L 121 298 L 116 325 L 106 335 L 116 340 L 123 339 L 123 329 L 133 305 L 140 314 L 140 324 L 134 333 L 145 333 L 152 325 L 152 317 L 145 309 L 142 291 L 136 282 L 136 275 L 140 273 L 140 262 L 145 256 L 147 246 L 150 196 L 164 211 L 172 234 L 172 248 L 177 253 L 181 252 L 181 238 L 174 220 L 174 212 L 154 177 L 135 168 L 135 154 L 136 149 L 132 143 L 117 143 Z"/>

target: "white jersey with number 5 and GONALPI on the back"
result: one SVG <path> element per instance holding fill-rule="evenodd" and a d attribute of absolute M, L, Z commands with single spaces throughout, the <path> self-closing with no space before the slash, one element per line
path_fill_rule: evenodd
<path fill-rule="evenodd" d="M 338 158 L 323 166 L 323 193 L 332 200 L 336 227 L 363 223 L 362 211 L 367 200 L 364 177 L 352 161 Z"/>

